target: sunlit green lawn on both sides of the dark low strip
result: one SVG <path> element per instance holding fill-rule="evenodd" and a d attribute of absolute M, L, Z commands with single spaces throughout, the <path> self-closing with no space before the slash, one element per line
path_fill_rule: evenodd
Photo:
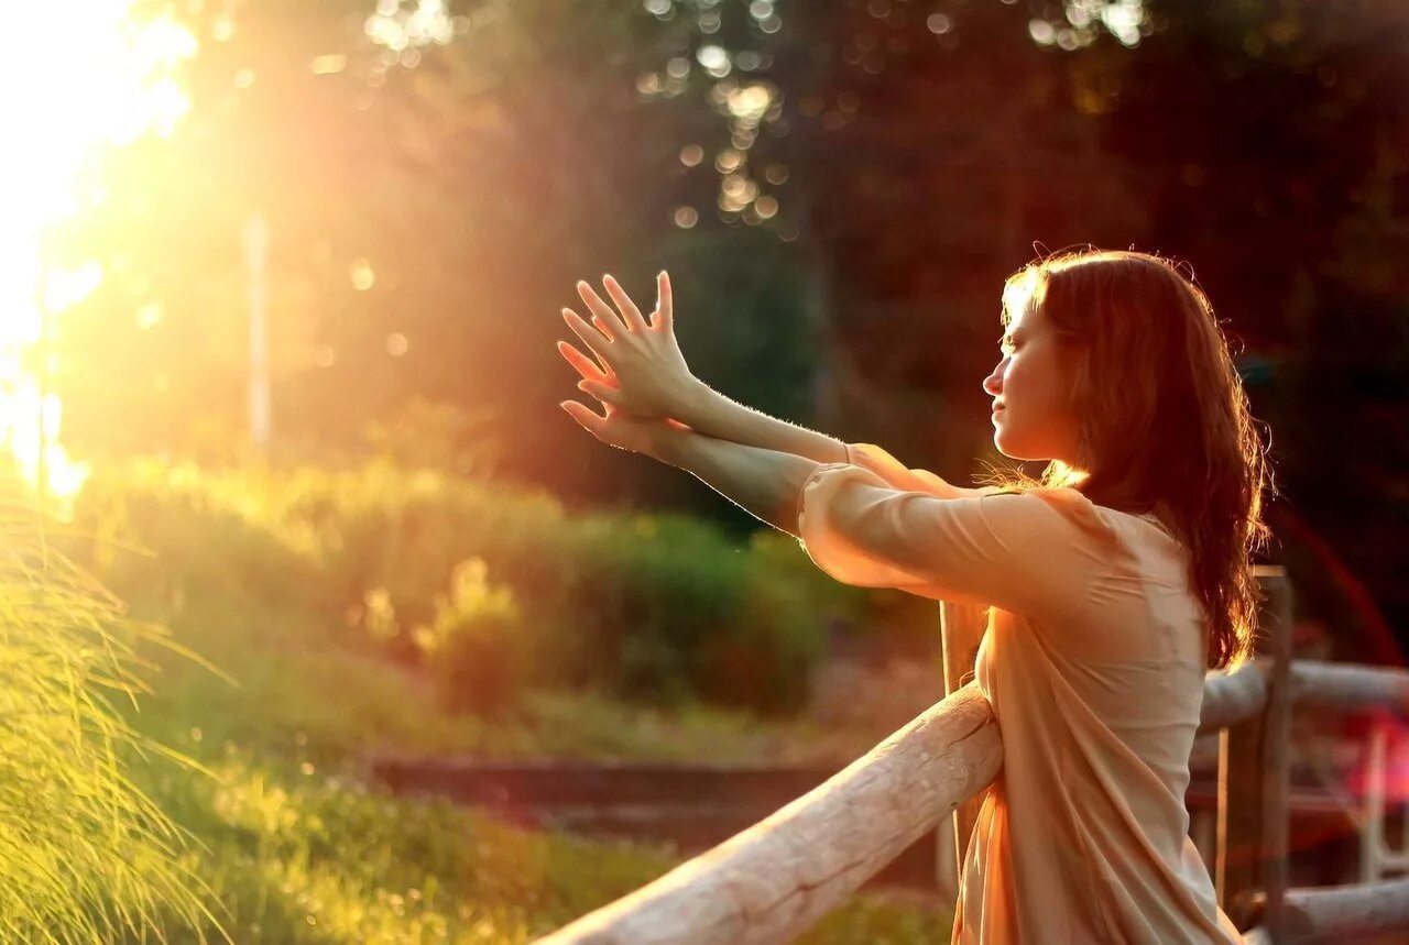
<path fill-rule="evenodd" d="M 134 731 L 210 772 L 161 758 L 132 768 L 135 786 L 194 838 L 179 866 L 218 903 L 206 918 L 163 910 L 176 942 L 211 935 L 217 918 L 238 942 L 527 942 L 682 860 L 669 844 L 526 830 L 390 796 L 362 780 L 372 752 L 840 766 L 886 734 L 693 701 L 666 711 L 600 691 L 530 690 L 493 721 L 447 714 L 423 673 L 359 645 L 342 614 L 289 593 L 299 558 L 247 562 L 251 580 L 221 572 L 225 539 L 241 538 L 211 535 L 182 580 L 166 580 L 161 562 L 114 572 L 127 575 L 118 590 L 131 618 L 169 627 L 216 668 L 139 644 L 151 691 L 118 707 Z M 858 894 L 800 941 L 929 942 L 950 924 L 945 910 Z"/>

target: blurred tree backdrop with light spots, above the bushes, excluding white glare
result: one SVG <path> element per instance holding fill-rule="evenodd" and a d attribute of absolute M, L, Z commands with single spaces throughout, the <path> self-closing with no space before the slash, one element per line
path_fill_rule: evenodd
<path fill-rule="evenodd" d="M 1193 266 L 1271 425 L 1278 553 L 1308 606 L 1396 653 L 1396 0 L 170 10 L 200 42 L 190 114 L 55 241 L 107 273 L 55 339 L 80 455 L 241 452 L 252 211 L 280 455 L 414 451 L 433 428 L 448 442 L 421 452 L 461 472 L 735 534 L 752 521 L 714 493 L 557 410 L 573 280 L 647 292 L 671 269 L 704 380 L 962 479 L 993 456 L 1002 277 L 1034 248 L 1155 249 Z"/>

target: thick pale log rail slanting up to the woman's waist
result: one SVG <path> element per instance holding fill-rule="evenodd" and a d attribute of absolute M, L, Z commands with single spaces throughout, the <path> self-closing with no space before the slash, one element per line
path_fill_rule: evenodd
<path fill-rule="evenodd" d="M 771 817 L 540 941 L 789 941 L 992 783 L 1002 762 L 993 711 L 967 686 Z"/>

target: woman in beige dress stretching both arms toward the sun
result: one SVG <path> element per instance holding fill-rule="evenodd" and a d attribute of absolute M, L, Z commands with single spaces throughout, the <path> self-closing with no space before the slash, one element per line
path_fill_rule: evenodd
<path fill-rule="evenodd" d="M 586 284 L 599 439 L 686 469 L 799 537 L 837 580 L 991 604 L 978 686 L 1003 738 L 954 942 L 1240 942 L 1184 791 L 1206 669 L 1251 651 L 1262 448 L 1206 296 L 1169 262 L 1081 251 L 1009 277 L 993 442 L 1041 482 L 964 489 L 735 404 L 696 380 L 671 286 L 647 323 Z"/>

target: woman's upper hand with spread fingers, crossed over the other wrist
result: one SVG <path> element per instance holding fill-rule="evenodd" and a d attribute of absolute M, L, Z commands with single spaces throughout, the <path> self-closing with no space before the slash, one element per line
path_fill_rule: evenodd
<path fill-rule="evenodd" d="M 572 308 L 562 310 L 568 327 L 600 362 L 599 366 L 566 341 L 558 342 L 558 352 L 582 375 L 578 389 L 638 417 L 682 414 L 685 397 L 697 382 L 675 341 L 671 277 L 665 272 L 655 277 L 657 307 L 650 324 L 616 279 L 606 276 L 603 284 L 620 315 L 585 282 L 578 283 L 578 294 L 592 311 L 592 324 Z"/>

